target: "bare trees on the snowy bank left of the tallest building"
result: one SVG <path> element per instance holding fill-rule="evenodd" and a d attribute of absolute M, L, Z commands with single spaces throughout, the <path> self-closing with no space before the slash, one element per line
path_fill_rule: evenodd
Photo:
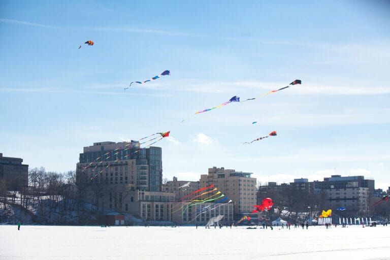
<path fill-rule="evenodd" d="M 77 185 L 75 171 L 47 172 L 44 167 L 28 171 L 28 186 L 22 177 L 0 179 L 0 222 L 21 215 L 40 224 L 95 222 L 96 212 L 86 204 L 85 188 Z"/>

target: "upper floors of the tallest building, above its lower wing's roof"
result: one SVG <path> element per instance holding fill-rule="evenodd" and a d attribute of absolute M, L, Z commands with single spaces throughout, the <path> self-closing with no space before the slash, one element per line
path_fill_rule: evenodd
<path fill-rule="evenodd" d="M 137 141 L 100 142 L 86 146 L 77 163 L 77 178 L 95 184 L 130 184 L 132 190 L 161 191 L 161 148 L 140 148 Z"/>

